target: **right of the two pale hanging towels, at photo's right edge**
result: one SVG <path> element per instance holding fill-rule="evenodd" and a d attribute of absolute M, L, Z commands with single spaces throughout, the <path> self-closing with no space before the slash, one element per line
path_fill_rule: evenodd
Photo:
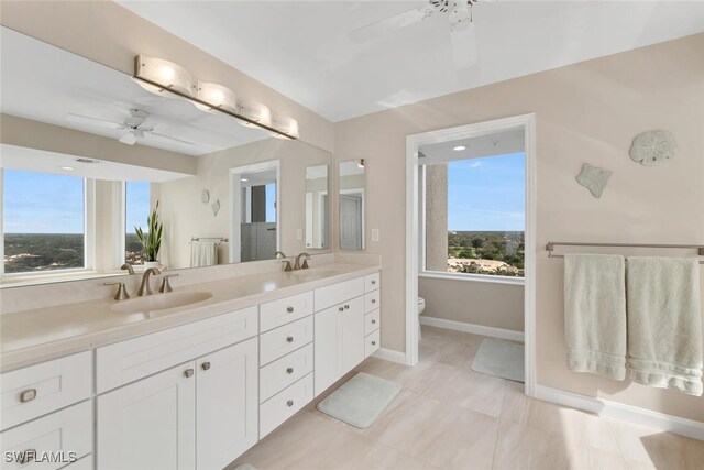
<path fill-rule="evenodd" d="M 631 380 L 702 395 L 698 261 L 631 256 L 626 280 Z"/>

